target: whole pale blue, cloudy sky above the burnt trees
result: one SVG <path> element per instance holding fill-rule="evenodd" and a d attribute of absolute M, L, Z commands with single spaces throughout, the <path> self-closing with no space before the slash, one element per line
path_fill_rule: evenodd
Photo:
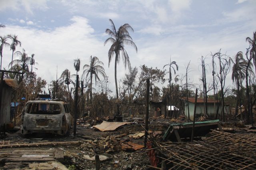
<path fill-rule="evenodd" d="M 255 18 L 256 0 L 0 0 L 0 23 L 6 25 L 0 35 L 18 35 L 22 47 L 16 50 L 35 54 L 38 76 L 50 84 L 66 68 L 75 74 L 76 58 L 81 60 L 81 75 L 92 55 L 104 63 L 112 91 L 114 60 L 108 67 L 110 44 L 104 46 L 109 19 L 117 28 L 129 23 L 134 29 L 130 35 L 138 52 L 125 46 L 132 67 L 145 64 L 162 69 L 171 56 L 181 77 L 191 61 L 188 76 L 200 85 L 201 56 L 210 64 L 211 52 L 220 49 L 230 57 L 245 53 L 249 46 L 245 39 L 256 31 Z M 8 69 L 11 58 L 10 48 L 4 48 L 4 68 Z M 118 80 L 127 72 L 119 63 Z M 231 72 L 226 82 L 233 86 Z"/>

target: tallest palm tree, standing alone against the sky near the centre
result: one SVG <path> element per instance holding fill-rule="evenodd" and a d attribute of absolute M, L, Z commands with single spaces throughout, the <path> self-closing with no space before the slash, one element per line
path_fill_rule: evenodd
<path fill-rule="evenodd" d="M 129 60 L 129 56 L 124 49 L 124 45 L 131 45 L 134 47 L 134 49 L 137 52 L 137 47 L 135 43 L 132 40 L 132 37 L 129 35 L 129 30 L 134 31 L 132 27 L 125 23 L 124 25 L 120 26 L 118 30 L 116 30 L 116 27 L 114 25 L 114 22 L 109 19 L 111 24 L 111 29 L 106 29 L 105 33 L 107 33 L 110 37 L 106 39 L 104 42 L 104 45 L 106 43 L 112 43 L 109 51 L 108 51 L 108 67 L 110 66 L 110 62 L 112 60 L 112 57 L 114 57 L 115 54 L 115 83 L 116 83 L 116 98 L 118 99 L 118 86 L 117 86 L 117 79 L 116 79 L 116 66 L 120 61 L 120 52 L 122 53 L 122 59 L 124 62 L 124 68 L 126 68 L 126 65 L 128 65 L 128 68 L 130 70 L 131 64 Z M 119 112 L 119 108 L 118 108 Z"/>

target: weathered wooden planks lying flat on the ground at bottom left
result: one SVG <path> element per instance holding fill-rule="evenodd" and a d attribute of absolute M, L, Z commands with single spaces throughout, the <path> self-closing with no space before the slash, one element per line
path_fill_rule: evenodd
<path fill-rule="evenodd" d="M 46 162 L 54 161 L 55 150 L 14 150 L 7 156 L 9 162 Z"/>

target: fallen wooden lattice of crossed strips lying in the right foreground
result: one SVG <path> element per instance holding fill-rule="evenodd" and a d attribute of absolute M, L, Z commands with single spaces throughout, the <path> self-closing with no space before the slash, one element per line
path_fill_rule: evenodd
<path fill-rule="evenodd" d="M 256 135 L 210 132 L 202 141 L 157 143 L 170 169 L 256 169 Z"/>

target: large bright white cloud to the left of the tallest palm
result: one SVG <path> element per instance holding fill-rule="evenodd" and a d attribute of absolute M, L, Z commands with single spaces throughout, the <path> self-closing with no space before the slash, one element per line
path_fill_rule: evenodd
<path fill-rule="evenodd" d="M 104 31 L 104 30 L 103 30 Z M 1 29 L 1 33 L 15 33 L 22 42 L 22 47 L 17 47 L 17 51 L 22 48 L 28 55 L 34 53 L 35 60 L 38 63 L 36 71 L 38 76 L 44 78 L 48 83 L 56 78 L 56 66 L 58 65 L 58 76 L 68 68 L 72 74 L 75 73 L 73 61 L 76 57 L 81 59 L 81 70 L 84 64 L 89 63 L 90 55 L 97 56 L 100 61 L 105 63 L 107 75 L 113 74 L 108 69 L 108 45 L 104 47 L 104 41 L 98 40 L 93 34 L 94 29 L 88 24 L 86 18 L 75 16 L 70 20 L 70 24 L 63 27 L 57 27 L 52 30 L 40 30 L 31 27 L 22 27 L 15 25 L 6 25 Z M 9 48 L 4 48 L 3 66 L 8 68 L 11 53 Z M 15 56 L 16 57 L 16 56 Z M 111 63 L 111 68 L 113 63 Z M 120 68 L 120 72 L 123 70 Z M 118 73 L 119 78 L 121 78 Z M 114 77 L 110 78 L 114 82 Z"/>

